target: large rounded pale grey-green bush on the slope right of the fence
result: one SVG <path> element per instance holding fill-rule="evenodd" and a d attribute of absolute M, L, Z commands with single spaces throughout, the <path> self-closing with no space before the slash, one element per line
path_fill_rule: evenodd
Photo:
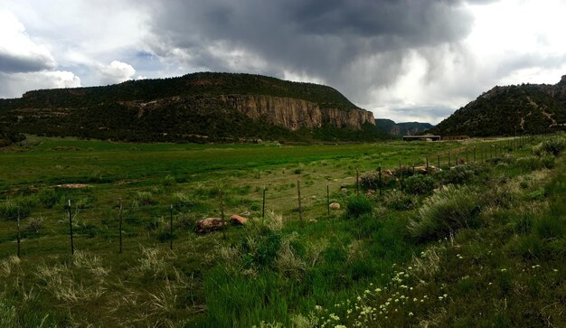
<path fill-rule="evenodd" d="M 439 239 L 456 230 L 474 228 L 480 211 L 479 197 L 467 187 L 448 185 L 424 201 L 408 229 L 415 239 Z"/>

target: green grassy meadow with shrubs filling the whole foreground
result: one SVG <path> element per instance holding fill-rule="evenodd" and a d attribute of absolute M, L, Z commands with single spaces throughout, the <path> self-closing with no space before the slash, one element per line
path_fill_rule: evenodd
<path fill-rule="evenodd" d="M 0 323 L 561 326 L 565 145 L 564 136 L 353 145 L 29 136 L 0 151 Z M 442 170 L 414 173 L 426 158 Z M 326 188 L 341 205 L 330 214 Z M 193 232 L 222 211 L 249 220 Z"/>

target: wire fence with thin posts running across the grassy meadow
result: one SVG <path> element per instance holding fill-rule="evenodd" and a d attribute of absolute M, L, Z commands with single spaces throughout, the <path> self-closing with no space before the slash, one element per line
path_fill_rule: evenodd
<path fill-rule="evenodd" d="M 542 135 L 548 136 L 548 135 Z M 409 175 L 414 175 L 418 173 L 434 173 L 439 170 L 443 169 L 450 169 L 454 166 L 458 165 L 468 165 L 468 164 L 486 164 L 490 160 L 500 158 L 504 154 L 514 153 L 523 149 L 525 145 L 532 142 L 533 140 L 539 136 L 515 136 L 512 138 L 507 139 L 495 139 L 495 140 L 488 140 L 477 143 L 473 146 L 470 145 L 463 145 L 456 149 L 450 149 L 448 151 L 440 152 L 435 155 L 425 155 L 420 161 L 410 160 L 410 161 L 399 161 L 399 166 L 395 168 L 384 168 L 380 164 L 375 172 L 379 176 L 379 183 L 378 183 L 378 191 L 373 191 L 376 193 L 376 196 L 382 197 L 383 191 L 389 189 L 386 188 L 382 183 L 383 174 L 387 173 L 390 176 L 394 177 L 396 181 L 399 183 L 399 188 L 402 190 L 403 188 L 403 180 L 407 178 Z M 436 163 L 434 163 L 436 162 Z M 434 165 L 434 164 L 436 165 Z M 404 164 L 404 165 L 403 165 Z M 392 170 L 392 171 L 391 171 Z M 361 190 L 360 186 L 360 177 L 359 177 L 359 170 L 356 168 L 356 176 L 355 176 L 355 194 L 359 194 Z M 269 205 L 269 193 L 267 192 L 266 187 L 264 186 L 262 190 L 260 190 L 262 194 L 261 199 L 261 218 L 264 219 L 266 215 L 266 203 Z M 330 187 L 329 184 L 326 183 L 325 190 L 321 192 L 324 194 L 323 197 L 320 199 L 324 199 L 323 202 L 325 204 L 325 211 L 321 211 L 321 215 L 324 213 L 326 216 L 330 217 Z M 297 207 L 295 211 L 297 211 L 298 220 L 304 220 L 304 212 L 303 206 L 307 197 L 304 195 L 301 196 L 301 181 L 297 179 Z M 289 200 L 291 201 L 291 200 Z M 294 202 L 294 201 L 293 201 Z M 149 209 L 144 209 L 143 206 L 139 206 L 137 201 L 130 201 L 128 206 L 125 206 L 125 202 L 122 199 L 118 199 L 116 204 L 110 206 L 84 206 L 79 204 L 77 201 L 73 201 L 71 199 L 66 200 L 66 203 L 63 207 L 59 206 L 54 210 L 49 211 L 34 211 L 34 214 L 39 217 L 57 217 L 59 216 L 61 220 L 58 220 L 61 223 L 61 229 L 59 230 L 52 230 L 54 233 L 53 236 L 50 236 L 52 239 L 60 239 L 61 236 L 68 235 L 69 237 L 69 250 L 71 251 L 71 255 L 75 253 L 75 237 L 89 237 L 89 230 L 92 229 L 92 226 L 95 224 L 104 225 L 107 229 L 111 228 L 114 229 L 114 232 L 108 234 L 107 237 L 118 239 L 118 254 L 122 254 L 124 249 L 124 235 L 136 235 L 132 233 L 127 233 L 128 223 L 131 225 L 132 222 L 137 222 L 139 220 L 134 214 L 141 214 L 140 216 L 152 218 L 156 216 L 156 213 L 160 213 L 161 215 L 158 216 L 159 219 L 165 220 L 168 218 L 168 227 L 164 227 L 161 229 L 159 239 L 161 241 L 169 241 L 169 248 L 174 248 L 174 239 L 175 239 L 175 231 L 181 229 L 180 227 L 175 226 L 175 218 L 176 223 L 179 223 L 179 218 L 181 218 L 186 212 L 184 212 L 184 207 L 179 206 L 177 204 L 167 204 L 167 205 L 151 205 Z M 220 189 L 218 191 L 218 206 L 220 211 L 221 220 L 224 223 L 224 227 L 226 229 L 222 229 L 223 231 L 223 238 L 226 238 L 226 230 L 227 227 L 230 225 L 229 222 L 226 222 L 224 218 L 224 200 L 223 200 L 223 191 Z M 97 217 L 97 215 L 90 215 L 89 211 L 97 211 L 100 213 L 101 211 L 105 213 L 108 218 L 105 217 Z M 127 214 L 127 218 L 125 221 L 125 214 Z M 22 222 L 25 217 L 29 217 L 29 211 L 23 211 L 20 207 L 17 208 L 17 211 L 14 215 L 0 218 L 4 220 L 14 220 L 14 229 L 7 229 L 3 228 L 0 229 L 0 245 L 8 244 L 15 241 L 15 254 L 18 258 L 22 257 L 22 244 L 24 241 L 24 237 L 26 235 L 30 235 L 30 229 L 33 230 L 33 221 L 28 220 L 28 226 L 26 230 L 22 229 Z M 62 227 L 62 223 L 68 220 L 68 230 L 64 230 Z M 196 222 L 192 222 L 188 224 L 188 226 L 193 226 Z M 66 223 L 65 223 L 66 224 Z M 149 225 L 152 223 L 149 222 Z M 32 225 L 32 228 L 30 228 Z M 187 224 L 183 222 L 183 229 L 185 229 Z M 159 223 L 154 223 L 154 226 L 149 226 L 150 230 L 157 230 L 159 227 Z M 74 228 L 74 230 L 73 230 Z M 31 233 L 33 235 L 33 233 Z"/>

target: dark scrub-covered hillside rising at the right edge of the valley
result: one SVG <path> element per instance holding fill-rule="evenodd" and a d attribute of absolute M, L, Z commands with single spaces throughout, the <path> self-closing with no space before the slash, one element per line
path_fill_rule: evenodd
<path fill-rule="evenodd" d="M 555 85 L 495 87 L 458 109 L 429 132 L 447 135 L 512 136 L 566 126 L 566 75 Z"/>

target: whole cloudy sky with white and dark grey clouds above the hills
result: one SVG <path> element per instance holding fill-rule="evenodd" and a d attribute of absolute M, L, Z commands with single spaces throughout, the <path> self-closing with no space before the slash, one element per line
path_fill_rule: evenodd
<path fill-rule="evenodd" d="M 0 98 L 195 71 L 329 85 L 439 123 L 566 75 L 566 0 L 0 0 Z"/>

